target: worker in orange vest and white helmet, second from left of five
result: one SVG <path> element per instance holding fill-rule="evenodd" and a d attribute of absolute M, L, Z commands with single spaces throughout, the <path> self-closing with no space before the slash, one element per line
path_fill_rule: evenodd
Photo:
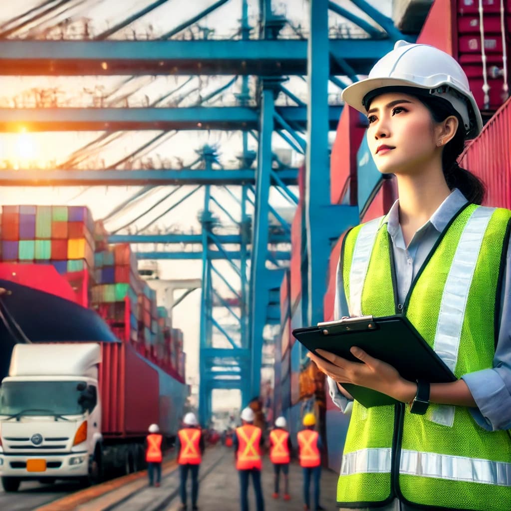
<path fill-rule="evenodd" d="M 176 451 L 179 464 L 181 509 L 187 509 L 188 472 L 192 474 L 192 509 L 198 509 L 199 466 L 204 453 L 204 439 L 194 413 L 188 412 L 183 419 L 184 427 L 177 433 Z"/>

